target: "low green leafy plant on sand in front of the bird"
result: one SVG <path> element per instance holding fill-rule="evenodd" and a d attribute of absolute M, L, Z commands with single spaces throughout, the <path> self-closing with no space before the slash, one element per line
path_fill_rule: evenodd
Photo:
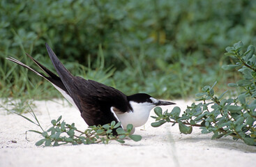
<path fill-rule="evenodd" d="M 36 114 L 33 112 L 31 107 L 29 106 L 31 116 L 34 120 L 27 118 L 26 116 L 22 116 L 20 113 L 13 112 L 22 118 L 28 120 L 34 125 L 40 127 L 40 131 L 36 130 L 28 130 L 27 132 L 34 132 L 43 136 L 40 141 L 36 142 L 37 146 L 59 146 L 59 145 L 80 145 L 80 144 L 95 144 L 95 143 L 104 143 L 108 144 L 110 141 L 118 141 L 119 143 L 125 143 L 127 138 L 132 139 L 133 141 L 140 141 L 142 136 L 137 134 L 130 134 L 133 130 L 133 125 L 127 125 L 126 130 L 121 128 L 121 122 L 112 121 L 110 124 L 106 125 L 94 125 L 88 127 L 84 131 L 77 129 L 75 127 L 75 123 L 68 124 L 62 119 L 62 116 L 59 116 L 57 120 L 52 120 L 52 127 L 45 130 Z M 26 136 L 27 136 L 26 132 Z M 27 137 L 26 137 L 27 138 Z"/>

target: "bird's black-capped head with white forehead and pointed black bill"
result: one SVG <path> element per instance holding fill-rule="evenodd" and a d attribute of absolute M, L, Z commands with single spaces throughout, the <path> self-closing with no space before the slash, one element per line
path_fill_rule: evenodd
<path fill-rule="evenodd" d="M 137 93 L 135 95 L 128 96 L 128 101 L 132 111 L 150 112 L 155 106 L 167 106 L 175 104 L 173 102 L 167 102 L 162 100 L 156 100 L 146 93 Z"/>

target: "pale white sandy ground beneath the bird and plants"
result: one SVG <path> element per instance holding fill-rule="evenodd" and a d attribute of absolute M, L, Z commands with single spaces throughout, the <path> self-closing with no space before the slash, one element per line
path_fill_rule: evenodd
<path fill-rule="evenodd" d="M 78 129 L 86 129 L 79 111 L 67 102 L 36 102 L 33 110 L 40 124 L 47 129 L 52 119 L 63 116 L 67 123 L 75 122 Z M 185 109 L 191 102 L 174 100 Z M 172 106 L 173 107 L 173 106 Z M 170 108 L 172 109 L 172 108 Z M 153 111 L 151 116 L 153 116 Z M 29 113 L 24 116 L 31 118 Z M 256 147 L 233 141 L 232 138 L 211 140 L 212 134 L 201 134 L 194 128 L 190 135 L 180 134 L 179 127 L 165 124 L 151 127 L 149 118 L 135 134 L 142 141 L 126 140 L 124 145 L 112 141 L 108 145 L 62 145 L 37 147 L 41 136 L 29 129 L 36 125 L 15 114 L 0 111 L 0 166 L 255 166 Z M 12 141 L 17 141 L 13 143 Z"/>

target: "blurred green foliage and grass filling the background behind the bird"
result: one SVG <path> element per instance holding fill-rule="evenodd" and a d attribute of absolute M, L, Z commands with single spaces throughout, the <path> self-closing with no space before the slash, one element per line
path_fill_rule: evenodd
<path fill-rule="evenodd" d="M 59 96 L 5 60 L 15 56 L 32 65 L 27 52 L 52 68 L 45 42 L 73 74 L 128 95 L 173 98 L 234 80 L 220 70 L 229 61 L 225 47 L 256 41 L 256 1 L 250 0 L 2 0 L 0 18 L 2 97 Z"/>

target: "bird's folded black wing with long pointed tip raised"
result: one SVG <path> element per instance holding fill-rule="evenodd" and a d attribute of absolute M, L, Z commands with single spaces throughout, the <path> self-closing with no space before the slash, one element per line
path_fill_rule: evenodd
<path fill-rule="evenodd" d="M 68 90 L 70 97 L 73 98 L 87 125 L 104 125 L 112 122 L 112 120 L 118 122 L 118 119 L 111 111 L 112 106 L 123 113 L 130 111 L 126 95 L 119 90 L 96 81 L 73 77 L 59 61 L 52 49 L 47 44 L 45 45 L 63 85 Z"/>

